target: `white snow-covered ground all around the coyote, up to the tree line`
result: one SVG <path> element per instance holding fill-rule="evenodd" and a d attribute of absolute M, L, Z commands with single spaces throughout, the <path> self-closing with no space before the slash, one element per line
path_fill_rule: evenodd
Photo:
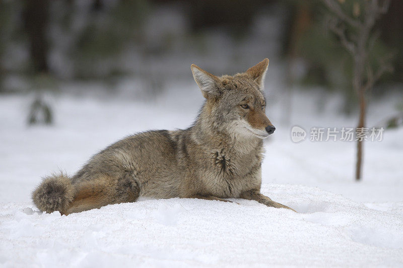
<path fill-rule="evenodd" d="M 265 143 L 262 192 L 298 213 L 248 200 L 173 198 L 39 214 L 30 192 L 41 176 L 73 174 L 129 133 L 187 127 L 203 97 L 194 82 L 167 85 L 153 101 L 63 94 L 53 99 L 55 125 L 27 127 L 32 96 L 1 96 L 0 266 L 402 266 L 403 129 L 365 144 L 357 183 L 355 143 L 310 142 L 309 133 L 291 142 L 283 94 L 270 76 L 267 114 L 277 130 Z M 293 94 L 291 125 L 355 125 L 335 112 L 340 98 L 319 95 Z M 368 124 L 390 114 L 396 99 L 372 103 Z"/>

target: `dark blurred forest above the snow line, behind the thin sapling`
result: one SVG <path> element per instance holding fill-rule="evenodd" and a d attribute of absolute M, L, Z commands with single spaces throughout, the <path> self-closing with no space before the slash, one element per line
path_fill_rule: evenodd
<path fill-rule="evenodd" d="M 339 0 L 358 19 L 365 2 Z M 392 0 L 376 21 L 370 57 L 391 53 L 393 72 L 372 97 L 403 92 L 402 12 L 403 2 Z M 0 92 L 32 93 L 29 123 L 39 121 L 38 111 L 51 123 L 44 92 L 152 99 L 170 81 L 190 80 L 190 63 L 221 75 L 269 57 L 285 98 L 307 88 L 340 92 L 339 110 L 350 114 L 357 110 L 353 59 L 329 31 L 326 14 L 317 0 L 2 0 Z M 77 86 L 88 82 L 94 86 Z"/>

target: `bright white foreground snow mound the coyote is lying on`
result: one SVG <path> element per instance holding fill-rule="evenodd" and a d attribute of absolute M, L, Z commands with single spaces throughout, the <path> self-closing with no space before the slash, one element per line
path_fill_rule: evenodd
<path fill-rule="evenodd" d="M 243 199 L 142 199 L 69 216 L 3 203 L 0 265 L 403 265 L 401 207 L 300 185 L 262 192 L 298 213 Z"/>

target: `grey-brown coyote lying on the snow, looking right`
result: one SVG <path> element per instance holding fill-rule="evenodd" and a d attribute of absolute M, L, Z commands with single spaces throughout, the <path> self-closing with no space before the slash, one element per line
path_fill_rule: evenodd
<path fill-rule="evenodd" d="M 32 193 L 34 204 L 69 215 L 139 196 L 225 202 L 234 197 L 292 210 L 260 193 L 263 139 L 276 129 L 265 115 L 267 66 L 265 58 L 244 73 L 217 77 L 191 64 L 206 100 L 189 128 L 124 138 L 72 177 L 45 177 Z"/>

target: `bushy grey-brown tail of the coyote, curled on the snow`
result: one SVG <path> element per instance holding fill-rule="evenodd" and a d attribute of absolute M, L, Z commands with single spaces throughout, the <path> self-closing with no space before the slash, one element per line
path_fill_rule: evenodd
<path fill-rule="evenodd" d="M 32 192 L 32 200 L 41 211 L 63 213 L 72 202 L 75 188 L 71 179 L 63 173 L 45 177 Z"/>

